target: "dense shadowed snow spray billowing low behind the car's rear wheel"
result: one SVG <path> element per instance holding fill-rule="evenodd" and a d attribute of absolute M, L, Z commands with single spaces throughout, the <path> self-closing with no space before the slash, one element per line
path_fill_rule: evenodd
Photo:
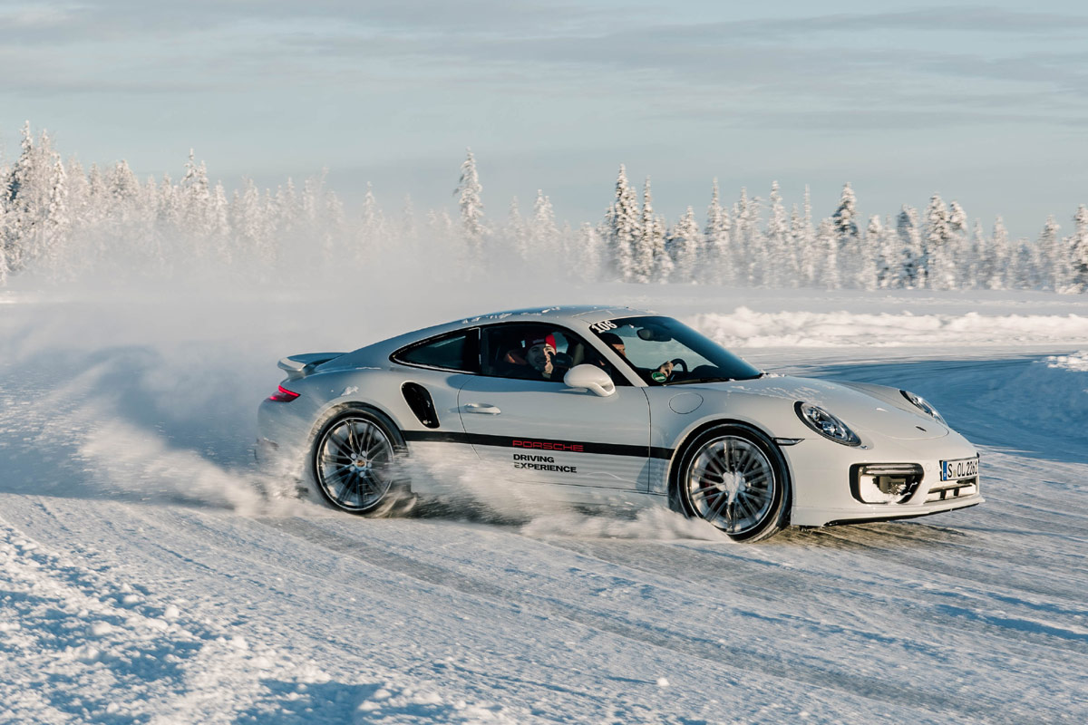
<path fill-rule="evenodd" d="M 176 362 L 153 349 L 59 357 L 28 355 L 5 371 L 5 490 L 244 514 L 289 508 L 289 484 L 259 476 L 245 464 L 248 442 L 226 434 L 224 421 L 208 420 L 221 408 L 212 399 L 226 393 L 222 375 L 186 390 Z"/>

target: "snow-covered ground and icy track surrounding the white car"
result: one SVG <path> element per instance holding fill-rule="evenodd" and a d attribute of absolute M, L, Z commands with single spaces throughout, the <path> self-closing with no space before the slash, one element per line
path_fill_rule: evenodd
<path fill-rule="evenodd" d="M 1088 304 L 562 292 L 927 397 L 988 502 L 916 522 L 742 546 L 523 498 L 372 521 L 251 467 L 279 357 L 556 301 L 520 293 L 369 327 L 332 296 L 9 295 L 0 723 L 1088 722 Z"/>

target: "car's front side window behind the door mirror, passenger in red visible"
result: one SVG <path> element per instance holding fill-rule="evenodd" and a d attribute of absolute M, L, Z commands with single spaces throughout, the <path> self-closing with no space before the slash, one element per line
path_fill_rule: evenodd
<path fill-rule="evenodd" d="M 601 365 L 616 382 L 629 385 L 582 338 L 543 323 L 509 323 L 481 330 L 481 373 L 493 377 L 562 383 L 574 365 Z"/>

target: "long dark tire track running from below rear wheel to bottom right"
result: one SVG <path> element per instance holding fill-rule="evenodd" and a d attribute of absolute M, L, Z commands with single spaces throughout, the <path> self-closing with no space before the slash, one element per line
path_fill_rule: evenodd
<path fill-rule="evenodd" d="M 961 718 L 977 718 L 980 723 L 1019 723 L 1027 713 L 1016 713 L 1007 702 L 980 701 L 975 697 L 957 697 L 942 692 L 918 692 L 900 683 L 834 671 L 824 661 L 818 665 L 802 661 L 783 661 L 781 657 L 763 654 L 728 643 L 694 639 L 652 625 L 609 618 L 601 613 L 573 603 L 527 595 L 522 591 L 482 582 L 458 572 L 409 557 L 368 547 L 358 539 L 343 536 L 309 521 L 292 518 L 258 518 L 260 523 L 295 536 L 329 551 L 351 557 L 367 564 L 395 572 L 431 585 L 455 589 L 461 593 L 516 603 L 527 609 L 543 611 L 548 616 L 560 617 L 579 626 L 586 626 L 625 639 L 633 640 L 675 653 L 694 657 L 718 666 L 737 668 L 762 676 L 787 679 L 800 685 L 830 689 L 852 697 L 876 700 L 886 704 L 947 717 L 954 711 Z"/>

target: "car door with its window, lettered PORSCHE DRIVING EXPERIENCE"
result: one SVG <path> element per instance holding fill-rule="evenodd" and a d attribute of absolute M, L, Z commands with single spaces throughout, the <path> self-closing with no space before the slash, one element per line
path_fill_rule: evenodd
<path fill-rule="evenodd" d="M 492 470 L 531 483 L 645 491 L 648 485 L 650 404 L 642 388 L 623 380 L 601 397 L 544 379 L 531 370 L 503 367 L 507 346 L 551 335 L 557 358 L 578 362 L 592 348 L 570 330 L 541 323 L 508 323 L 481 330 L 481 375 L 458 395 L 465 432 Z M 516 347 L 511 347 L 511 350 Z"/>

